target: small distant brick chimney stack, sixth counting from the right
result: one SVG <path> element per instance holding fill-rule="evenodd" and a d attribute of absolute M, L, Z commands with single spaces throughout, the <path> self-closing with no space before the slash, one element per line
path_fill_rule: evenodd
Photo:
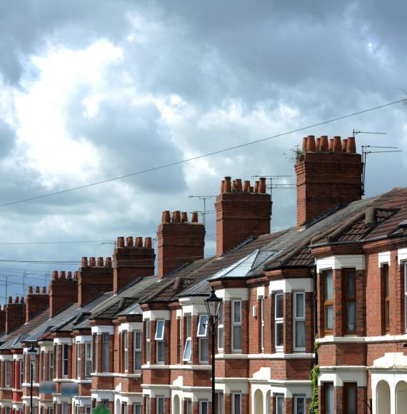
<path fill-rule="evenodd" d="M 76 272 L 75 272 L 76 273 Z M 72 273 L 68 276 L 64 271 L 54 271 L 52 280 L 49 282 L 49 316 L 52 318 L 62 309 L 78 301 L 78 281 L 72 278 Z"/>

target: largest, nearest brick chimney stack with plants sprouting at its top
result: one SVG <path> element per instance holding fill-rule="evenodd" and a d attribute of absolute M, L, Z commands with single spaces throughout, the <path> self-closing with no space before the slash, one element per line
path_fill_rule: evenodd
<path fill-rule="evenodd" d="M 297 176 L 297 229 L 340 203 L 362 197 L 363 162 L 355 138 L 303 138 L 295 165 Z"/>

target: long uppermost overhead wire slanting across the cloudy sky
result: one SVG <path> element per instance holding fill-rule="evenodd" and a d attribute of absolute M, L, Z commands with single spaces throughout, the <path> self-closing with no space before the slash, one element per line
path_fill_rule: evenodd
<path fill-rule="evenodd" d="M 9 203 L 0 204 L 0 207 L 12 206 L 14 204 L 25 203 L 26 201 L 38 200 L 39 198 L 46 198 L 46 197 L 56 196 L 58 194 L 69 193 L 71 191 L 80 190 L 82 188 L 89 188 L 89 187 L 92 187 L 92 186 L 99 186 L 100 184 L 109 183 L 111 181 L 121 180 L 122 178 L 128 178 L 128 177 L 131 177 L 131 176 L 138 176 L 140 174 L 149 173 L 151 171 L 160 170 L 162 168 L 168 168 L 168 167 L 171 167 L 171 166 L 177 166 L 177 165 L 182 164 L 182 163 L 187 163 L 189 161 L 195 161 L 195 160 L 198 160 L 198 159 L 201 159 L 201 158 L 205 158 L 205 157 L 208 157 L 208 156 L 213 156 L 213 155 L 216 155 L 218 153 L 224 153 L 226 151 L 231 151 L 231 150 L 237 149 L 237 148 L 243 148 L 245 146 L 250 146 L 250 145 L 253 145 L 255 143 L 260 143 L 260 142 L 268 141 L 270 139 L 278 138 L 280 136 L 286 136 L 286 135 L 289 135 L 291 133 L 296 133 L 296 132 L 299 132 L 299 131 L 304 131 L 305 129 L 309 129 L 309 128 L 314 128 L 316 126 L 325 125 L 326 123 L 340 121 L 341 119 L 350 118 L 351 116 L 360 115 L 361 113 L 375 111 L 376 109 L 385 108 L 386 106 L 391 106 L 391 105 L 394 105 L 394 104 L 399 104 L 401 102 L 407 103 L 407 99 L 399 99 L 398 101 L 389 102 L 388 104 L 383 104 L 383 105 L 379 105 L 379 106 L 374 106 L 373 108 L 363 109 L 363 111 L 358 111 L 358 112 L 349 113 L 348 115 L 338 116 L 337 118 L 332 118 L 332 119 L 329 119 L 328 121 L 313 123 L 312 125 L 303 126 L 302 128 L 296 128 L 296 129 L 293 129 L 291 131 L 287 131 L 287 132 L 283 132 L 283 133 L 278 133 L 278 134 L 273 135 L 273 136 L 268 136 L 267 138 L 261 138 L 261 139 L 255 140 L 255 141 L 241 143 L 241 144 L 236 145 L 236 146 L 230 146 L 228 148 L 223 148 L 223 149 L 218 150 L 218 151 L 213 151 L 213 152 L 206 153 L 206 154 L 202 154 L 202 155 L 199 155 L 199 156 L 195 156 L 195 157 L 191 157 L 191 158 L 186 158 L 186 159 L 181 160 L 181 161 L 174 161 L 172 163 L 167 163 L 167 164 L 164 164 L 164 165 L 161 165 L 161 166 L 147 168 L 145 170 L 137 171 L 135 173 L 125 174 L 124 176 L 119 176 L 119 177 L 114 177 L 114 178 L 107 178 L 106 180 L 97 181 L 96 183 L 89 183 L 89 184 L 84 184 L 83 186 L 77 186 L 77 187 L 73 187 L 73 188 L 67 188 L 66 190 L 54 191 L 54 193 L 44 194 L 42 196 L 36 196 L 36 197 L 31 197 L 31 198 L 24 198 L 23 200 L 18 200 L 18 201 L 11 201 Z"/>

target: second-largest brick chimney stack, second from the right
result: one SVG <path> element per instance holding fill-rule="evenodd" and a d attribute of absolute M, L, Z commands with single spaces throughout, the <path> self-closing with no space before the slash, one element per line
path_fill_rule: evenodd
<path fill-rule="evenodd" d="M 216 256 L 220 257 L 249 236 L 270 233 L 271 196 L 266 193 L 266 178 L 256 181 L 231 181 L 225 177 L 216 197 Z"/>

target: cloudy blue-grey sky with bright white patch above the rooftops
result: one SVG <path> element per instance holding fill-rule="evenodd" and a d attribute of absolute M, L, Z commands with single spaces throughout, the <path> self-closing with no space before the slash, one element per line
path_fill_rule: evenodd
<path fill-rule="evenodd" d="M 406 98 L 407 3 L 0 2 L 0 204 L 104 181 Z M 99 186 L 0 207 L 0 303 L 118 236 L 156 236 L 164 210 L 201 211 L 224 176 L 296 182 L 307 135 L 397 146 L 370 154 L 366 196 L 407 186 L 407 106 Z M 215 249 L 206 201 L 205 255 Z M 296 191 L 273 190 L 273 230 Z M 59 243 L 56 243 L 59 242 Z M 64 242 L 64 243 L 61 243 Z M 69 243 L 66 243 L 69 242 Z M 79 243 L 80 242 L 80 243 Z M 61 263 L 64 262 L 64 263 Z"/>

